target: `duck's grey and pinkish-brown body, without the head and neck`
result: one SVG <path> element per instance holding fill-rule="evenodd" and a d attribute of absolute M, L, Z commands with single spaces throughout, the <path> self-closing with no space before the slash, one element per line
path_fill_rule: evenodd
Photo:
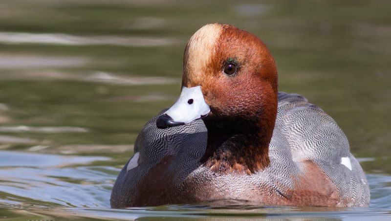
<path fill-rule="evenodd" d="M 157 129 L 161 111 L 139 133 L 135 155 L 114 184 L 111 207 L 191 203 L 216 196 L 261 200 L 264 205 L 368 206 L 367 179 L 335 121 L 300 95 L 280 92 L 278 100 L 271 163 L 250 176 L 219 176 L 203 167 L 203 122 Z M 318 192 L 324 199 L 317 198 Z M 258 193 L 262 196 L 254 196 Z"/>

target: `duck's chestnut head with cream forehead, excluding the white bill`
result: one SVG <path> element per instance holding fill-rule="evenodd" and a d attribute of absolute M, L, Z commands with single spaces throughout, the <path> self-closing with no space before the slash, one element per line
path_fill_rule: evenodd
<path fill-rule="evenodd" d="M 211 117 L 275 118 L 274 59 L 259 38 L 234 26 L 208 24 L 193 35 L 184 53 L 182 86 L 201 86 Z"/>

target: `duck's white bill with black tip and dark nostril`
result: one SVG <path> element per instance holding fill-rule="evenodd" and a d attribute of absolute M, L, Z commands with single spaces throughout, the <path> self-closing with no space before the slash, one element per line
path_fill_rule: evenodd
<path fill-rule="evenodd" d="M 198 120 L 210 112 L 202 95 L 201 87 L 182 88 L 182 92 L 175 104 L 156 120 L 156 126 L 164 129 L 188 124 Z"/>

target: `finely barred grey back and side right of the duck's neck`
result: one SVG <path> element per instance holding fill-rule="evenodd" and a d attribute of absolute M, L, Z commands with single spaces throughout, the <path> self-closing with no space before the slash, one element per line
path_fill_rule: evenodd
<path fill-rule="evenodd" d="M 323 172 L 319 177 L 326 175 L 331 180 L 341 200 L 339 206 L 368 206 L 367 178 L 350 154 L 348 139 L 336 122 L 301 95 L 279 92 L 278 100 L 269 155 L 280 157 L 281 151 L 288 148 L 301 173 L 304 170 L 308 176 L 318 176 L 308 171 L 316 166 Z"/>

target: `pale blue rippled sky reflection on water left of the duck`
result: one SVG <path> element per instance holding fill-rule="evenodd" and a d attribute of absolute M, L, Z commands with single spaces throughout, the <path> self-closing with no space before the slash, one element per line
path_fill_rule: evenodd
<path fill-rule="evenodd" d="M 115 168 L 77 166 L 109 157 L 0 152 L 2 199 L 40 204 L 109 207 Z M 111 172 L 111 173 L 110 173 Z M 87 200 L 86 200 L 87 199 Z"/>

